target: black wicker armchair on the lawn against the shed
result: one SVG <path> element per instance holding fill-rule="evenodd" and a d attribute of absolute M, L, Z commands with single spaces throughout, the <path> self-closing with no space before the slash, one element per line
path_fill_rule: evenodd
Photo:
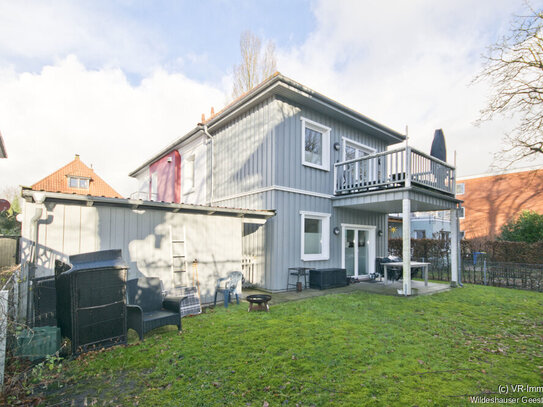
<path fill-rule="evenodd" d="M 177 325 L 181 331 L 181 304 L 187 297 L 164 297 L 162 281 L 141 277 L 126 283 L 128 297 L 127 328 L 143 335 L 165 325 Z"/>

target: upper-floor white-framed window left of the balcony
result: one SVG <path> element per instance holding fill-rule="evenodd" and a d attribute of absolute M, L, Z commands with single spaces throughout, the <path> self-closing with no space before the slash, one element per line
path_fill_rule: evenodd
<path fill-rule="evenodd" d="M 330 128 L 302 117 L 302 163 L 330 171 Z"/>

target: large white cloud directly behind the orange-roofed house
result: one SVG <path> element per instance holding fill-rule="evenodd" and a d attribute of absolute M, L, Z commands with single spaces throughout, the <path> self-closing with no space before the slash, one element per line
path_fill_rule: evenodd
<path fill-rule="evenodd" d="M 138 86 L 119 69 L 89 70 L 75 56 L 38 74 L 0 71 L 0 131 L 8 152 L 0 185 L 31 185 L 80 154 L 121 194 L 128 173 L 221 106 L 225 94 L 155 70 Z"/>

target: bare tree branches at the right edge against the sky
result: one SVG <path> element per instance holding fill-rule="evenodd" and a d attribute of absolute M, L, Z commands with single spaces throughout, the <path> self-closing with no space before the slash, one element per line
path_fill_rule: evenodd
<path fill-rule="evenodd" d="M 474 79 L 488 81 L 493 89 L 477 123 L 495 115 L 518 119 L 495 155 L 501 167 L 543 154 L 543 11 L 528 10 L 515 17 L 508 36 L 488 48 Z"/>

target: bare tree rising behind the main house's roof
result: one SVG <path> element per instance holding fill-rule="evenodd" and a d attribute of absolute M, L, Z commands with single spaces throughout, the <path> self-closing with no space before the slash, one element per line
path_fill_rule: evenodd
<path fill-rule="evenodd" d="M 241 63 L 234 66 L 232 98 L 248 92 L 277 70 L 275 44 L 268 41 L 261 56 L 262 41 L 251 31 L 241 34 L 239 41 Z"/>

